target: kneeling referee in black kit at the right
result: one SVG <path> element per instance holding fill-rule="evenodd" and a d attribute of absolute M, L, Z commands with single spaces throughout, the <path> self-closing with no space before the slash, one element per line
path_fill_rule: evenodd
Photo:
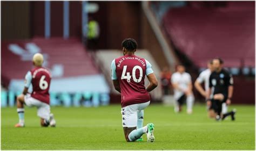
<path fill-rule="evenodd" d="M 220 58 L 213 59 L 214 71 L 209 79 L 209 90 L 206 97 L 207 105 L 214 110 L 216 120 L 224 120 L 228 116 L 235 120 L 235 109 L 221 114 L 222 104 L 231 104 L 233 95 L 233 77 L 227 70 L 223 69 L 223 63 Z"/>

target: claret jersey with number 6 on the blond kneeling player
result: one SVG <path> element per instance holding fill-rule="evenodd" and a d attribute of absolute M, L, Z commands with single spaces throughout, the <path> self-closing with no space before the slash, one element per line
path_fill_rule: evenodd
<path fill-rule="evenodd" d="M 25 76 L 25 87 L 29 88 L 31 84 L 33 87 L 31 97 L 46 104 L 50 104 L 50 82 L 51 73 L 49 70 L 43 67 L 36 67 L 28 71 Z"/>

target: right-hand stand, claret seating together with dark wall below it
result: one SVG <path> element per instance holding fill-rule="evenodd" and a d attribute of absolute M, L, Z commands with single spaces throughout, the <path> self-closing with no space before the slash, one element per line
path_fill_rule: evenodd
<path fill-rule="evenodd" d="M 158 24 L 179 61 L 187 66 L 192 80 L 206 68 L 208 60 L 221 57 L 225 61 L 224 67 L 234 75 L 232 102 L 254 104 L 255 39 L 252 31 L 255 3 L 161 3 L 164 2 L 151 3 L 154 5 L 151 6 L 152 12 L 156 18 L 161 18 Z M 164 9 L 159 8 L 161 6 Z M 200 98 L 197 93 L 196 97 Z"/>

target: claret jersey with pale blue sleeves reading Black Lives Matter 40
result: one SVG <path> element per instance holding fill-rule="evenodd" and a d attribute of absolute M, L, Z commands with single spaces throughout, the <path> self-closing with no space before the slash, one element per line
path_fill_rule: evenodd
<path fill-rule="evenodd" d="M 145 75 L 153 73 L 149 61 L 136 55 L 125 55 L 111 64 L 112 80 L 118 80 L 121 88 L 121 105 L 145 103 L 150 95 L 144 85 Z"/>

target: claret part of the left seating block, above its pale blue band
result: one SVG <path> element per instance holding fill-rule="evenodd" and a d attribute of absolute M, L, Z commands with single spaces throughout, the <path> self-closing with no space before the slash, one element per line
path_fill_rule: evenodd
<path fill-rule="evenodd" d="M 48 56 L 48 67 L 52 67 L 53 64 L 62 64 L 65 67 L 64 77 L 98 74 L 97 69 L 86 51 L 84 51 L 85 48 L 80 41 L 77 39 L 64 40 L 63 38 L 2 41 L 2 55 L 5 56 L 2 58 L 2 74 L 10 78 L 23 78 L 24 73 L 31 68 L 30 60 L 32 59 L 32 55 L 28 59 L 29 61 L 22 61 L 19 59 L 22 56 L 12 53 L 9 47 L 10 44 L 17 44 L 23 48 L 28 43 L 36 44 L 42 53 Z M 79 70 L 77 67 L 79 67 Z"/>

